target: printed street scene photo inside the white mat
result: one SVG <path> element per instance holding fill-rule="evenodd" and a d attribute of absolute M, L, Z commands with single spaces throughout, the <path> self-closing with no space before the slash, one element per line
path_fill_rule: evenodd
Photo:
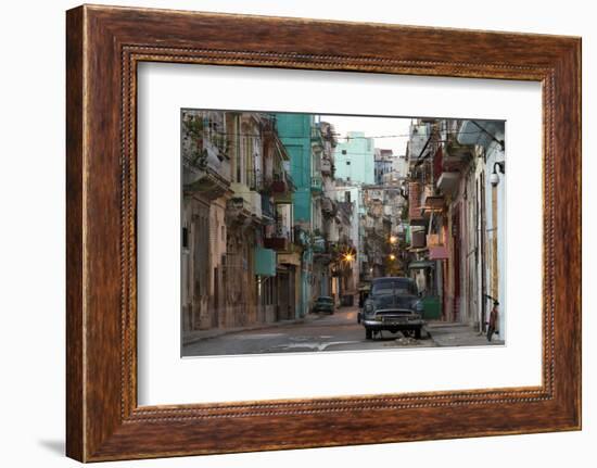
<path fill-rule="evenodd" d="M 186 109 L 182 356 L 504 343 L 505 131 Z"/>

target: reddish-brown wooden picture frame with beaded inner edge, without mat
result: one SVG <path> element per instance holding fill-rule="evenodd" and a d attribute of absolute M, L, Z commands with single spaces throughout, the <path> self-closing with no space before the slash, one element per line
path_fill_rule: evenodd
<path fill-rule="evenodd" d="M 581 428 L 580 38 L 90 5 L 69 10 L 66 26 L 69 457 L 99 461 Z M 139 407 L 141 61 L 539 81 L 542 385 Z"/>

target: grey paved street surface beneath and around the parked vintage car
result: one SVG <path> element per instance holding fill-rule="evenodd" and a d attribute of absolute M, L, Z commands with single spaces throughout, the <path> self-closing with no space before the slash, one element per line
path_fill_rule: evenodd
<path fill-rule="evenodd" d="M 185 356 L 223 354 L 265 354 L 318 351 L 383 350 L 392 347 L 431 347 L 487 345 L 484 337 L 458 324 L 430 324 L 421 340 L 388 331 L 374 340 L 365 339 L 357 324 L 357 307 L 343 307 L 333 315 L 310 314 L 304 322 L 283 324 L 233 331 L 198 339 L 183 347 Z M 499 344 L 493 342 L 492 344 Z"/>

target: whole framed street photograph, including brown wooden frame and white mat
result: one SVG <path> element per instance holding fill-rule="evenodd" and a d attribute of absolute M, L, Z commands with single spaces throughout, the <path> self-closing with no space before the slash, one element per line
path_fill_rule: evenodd
<path fill-rule="evenodd" d="M 581 428 L 581 40 L 67 12 L 81 461 Z"/>

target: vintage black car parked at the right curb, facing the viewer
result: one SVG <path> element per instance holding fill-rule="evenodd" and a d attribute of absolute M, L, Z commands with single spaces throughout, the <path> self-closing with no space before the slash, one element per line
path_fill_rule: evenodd
<path fill-rule="evenodd" d="M 417 284 L 410 278 L 384 277 L 371 281 L 371 291 L 365 300 L 359 321 L 367 340 L 382 330 L 412 332 L 421 338 L 423 304 Z"/>

